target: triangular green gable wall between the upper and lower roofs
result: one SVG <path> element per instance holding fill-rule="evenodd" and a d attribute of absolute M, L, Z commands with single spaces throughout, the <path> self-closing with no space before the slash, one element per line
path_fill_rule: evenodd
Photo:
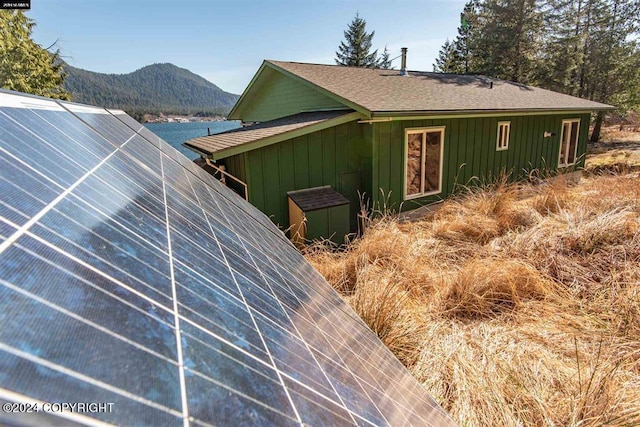
<path fill-rule="evenodd" d="M 251 103 L 239 112 L 245 122 L 265 122 L 301 111 L 346 108 L 344 104 L 278 71 L 266 72 L 268 79 L 261 87 L 253 89 Z"/>

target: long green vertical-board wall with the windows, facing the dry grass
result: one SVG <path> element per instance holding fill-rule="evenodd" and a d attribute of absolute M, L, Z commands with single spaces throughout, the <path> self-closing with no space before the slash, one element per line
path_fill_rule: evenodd
<path fill-rule="evenodd" d="M 512 180 L 534 169 L 558 168 L 562 120 L 580 119 L 576 165 L 584 166 L 589 114 L 550 114 L 394 120 L 372 127 L 372 202 L 375 208 L 414 209 L 451 195 L 456 185 L 489 182 L 502 171 Z M 511 122 L 508 149 L 496 150 L 498 122 Z M 404 201 L 405 129 L 444 126 L 442 192 Z M 545 131 L 555 133 L 544 137 Z"/>

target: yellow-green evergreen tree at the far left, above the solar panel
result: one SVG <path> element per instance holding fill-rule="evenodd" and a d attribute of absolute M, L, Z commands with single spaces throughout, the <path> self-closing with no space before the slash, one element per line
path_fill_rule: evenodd
<path fill-rule="evenodd" d="M 0 10 L 0 86 L 71 99 L 62 87 L 65 75 L 59 51 L 51 53 L 31 39 L 34 25 L 22 11 Z"/>

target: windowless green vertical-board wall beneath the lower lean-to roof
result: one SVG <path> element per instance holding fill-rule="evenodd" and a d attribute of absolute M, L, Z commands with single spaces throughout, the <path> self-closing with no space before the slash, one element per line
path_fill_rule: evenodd
<path fill-rule="evenodd" d="M 232 175 L 245 178 L 249 202 L 283 229 L 289 226 L 288 191 L 330 185 L 349 199 L 353 230 L 360 208 L 358 190 L 368 193 L 371 188 L 368 131 L 349 122 L 230 156 L 222 163 Z"/>

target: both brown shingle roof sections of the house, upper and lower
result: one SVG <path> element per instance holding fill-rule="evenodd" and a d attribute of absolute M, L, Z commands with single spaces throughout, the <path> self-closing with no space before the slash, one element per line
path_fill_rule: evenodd
<path fill-rule="evenodd" d="M 486 76 L 383 70 L 299 62 L 265 61 L 284 74 L 317 86 L 366 115 L 464 114 L 520 111 L 594 111 L 614 107 Z M 240 102 L 243 102 L 242 99 Z M 249 99 L 244 102 L 251 102 Z M 366 111 L 365 111 L 366 110 Z M 367 112 L 368 111 L 368 112 Z M 338 118 L 352 111 L 299 113 L 185 142 L 188 148 L 215 153 L 242 144 Z"/>

